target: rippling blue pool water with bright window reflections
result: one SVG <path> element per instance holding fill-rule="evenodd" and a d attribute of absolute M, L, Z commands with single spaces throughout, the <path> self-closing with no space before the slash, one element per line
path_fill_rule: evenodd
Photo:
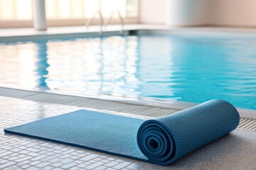
<path fill-rule="evenodd" d="M 254 38 L 178 35 L 1 43 L 0 85 L 256 109 L 255 49 Z"/>

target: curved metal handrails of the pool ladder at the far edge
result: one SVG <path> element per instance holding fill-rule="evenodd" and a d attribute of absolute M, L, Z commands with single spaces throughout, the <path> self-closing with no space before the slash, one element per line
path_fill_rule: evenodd
<path fill-rule="evenodd" d="M 124 18 L 122 18 L 122 15 L 121 13 L 116 10 L 116 11 L 113 11 L 110 15 L 110 18 L 108 19 L 107 23 L 105 24 L 105 30 L 107 29 L 107 26 L 108 24 L 110 23 L 110 21 L 112 20 L 113 16 L 114 16 L 114 13 L 117 13 L 118 17 L 119 17 L 119 20 L 121 21 L 121 30 L 120 30 L 120 33 L 122 34 L 124 32 Z M 99 34 L 102 35 L 102 27 L 104 25 L 104 20 L 103 20 L 103 17 L 102 17 L 102 12 L 100 10 L 96 11 L 95 14 L 92 16 L 92 18 L 90 18 L 89 21 L 87 21 L 86 23 L 86 28 L 89 29 L 89 27 L 91 26 L 92 24 L 92 21 L 93 19 L 95 18 L 95 16 L 99 14 L 100 16 L 100 32 Z"/>

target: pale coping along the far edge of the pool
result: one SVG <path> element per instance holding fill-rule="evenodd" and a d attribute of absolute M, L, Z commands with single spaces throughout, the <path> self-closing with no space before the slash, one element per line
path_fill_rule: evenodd
<path fill-rule="evenodd" d="M 56 27 L 48 28 L 46 31 L 34 30 L 33 28 L 9 28 L 0 29 L 0 42 L 17 42 L 17 41 L 31 41 L 31 40 L 48 40 L 48 39 L 65 39 L 65 38 L 85 38 L 85 37 L 99 37 L 99 26 L 91 26 L 87 29 L 85 26 L 71 26 L 71 27 Z M 105 28 L 102 32 L 102 37 L 111 35 L 129 35 L 131 31 L 138 31 L 139 34 L 157 33 L 178 35 L 210 35 L 214 37 L 234 38 L 234 36 L 242 36 L 247 38 L 256 38 L 255 28 L 230 28 L 230 27 L 212 27 L 212 26 L 198 26 L 198 27 L 170 27 L 163 25 L 147 25 L 147 24 L 129 24 L 124 26 L 124 33 L 120 33 L 119 25 L 112 25 Z M 210 33 L 210 34 L 209 34 Z M 143 34 L 143 33 L 142 33 Z"/>

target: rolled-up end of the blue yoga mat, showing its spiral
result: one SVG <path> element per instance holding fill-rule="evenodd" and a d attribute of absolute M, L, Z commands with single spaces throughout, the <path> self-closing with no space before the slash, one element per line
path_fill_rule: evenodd
<path fill-rule="evenodd" d="M 137 144 L 151 163 L 167 165 L 235 130 L 239 113 L 227 101 L 212 100 L 154 120 L 137 132 Z"/>

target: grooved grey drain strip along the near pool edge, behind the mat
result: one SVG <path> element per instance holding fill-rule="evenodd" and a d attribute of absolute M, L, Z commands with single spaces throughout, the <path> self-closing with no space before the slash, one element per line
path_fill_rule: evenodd
<path fill-rule="evenodd" d="M 142 104 L 125 103 L 122 101 L 108 101 L 96 98 L 65 96 L 60 94 L 48 94 L 38 91 L 22 91 L 17 89 L 0 88 L 0 96 L 68 106 L 78 106 L 82 108 L 93 108 L 97 110 L 112 111 L 124 115 L 137 115 L 141 116 L 142 118 L 157 118 L 181 111 L 175 108 L 146 106 Z M 238 128 L 242 130 L 256 130 L 256 120 L 240 118 L 240 124 Z"/>

